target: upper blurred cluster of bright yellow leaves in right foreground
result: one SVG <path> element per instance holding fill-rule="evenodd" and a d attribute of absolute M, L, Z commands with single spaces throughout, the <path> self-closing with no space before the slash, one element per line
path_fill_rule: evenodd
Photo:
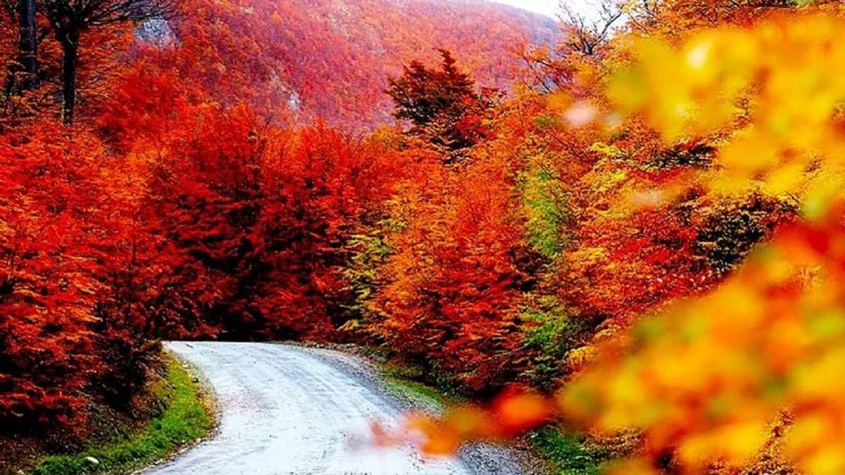
<path fill-rule="evenodd" d="M 813 180 L 824 177 L 828 195 L 845 184 L 842 20 L 782 15 L 750 29 L 705 30 L 679 47 L 641 39 L 630 50 L 635 62 L 613 74 L 612 100 L 667 143 L 713 137 L 726 175 L 714 188 L 762 183 L 769 194 L 814 199 L 818 208 L 807 194 Z"/>

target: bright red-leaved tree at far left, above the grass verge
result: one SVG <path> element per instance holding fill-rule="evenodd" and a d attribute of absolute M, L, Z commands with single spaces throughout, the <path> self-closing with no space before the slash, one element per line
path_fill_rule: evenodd
<path fill-rule="evenodd" d="M 134 289 L 118 280 L 133 272 L 134 230 L 123 227 L 129 206 L 110 207 L 120 197 L 105 149 L 44 123 L 4 135 L 0 156 L 3 428 L 68 423 L 95 400 L 127 404 L 155 345 L 139 339 Z"/>

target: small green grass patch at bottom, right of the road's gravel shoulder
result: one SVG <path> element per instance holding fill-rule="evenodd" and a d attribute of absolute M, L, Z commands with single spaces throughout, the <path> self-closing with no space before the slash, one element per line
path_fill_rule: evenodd
<path fill-rule="evenodd" d="M 528 440 L 549 461 L 558 475 L 597 475 L 599 461 L 584 448 L 581 440 L 554 426 L 529 434 Z"/>

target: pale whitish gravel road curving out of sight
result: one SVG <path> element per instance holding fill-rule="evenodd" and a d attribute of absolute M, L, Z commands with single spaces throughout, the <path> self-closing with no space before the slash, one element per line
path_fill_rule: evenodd
<path fill-rule="evenodd" d="M 172 342 L 166 347 L 196 365 L 207 379 L 218 402 L 220 427 L 212 439 L 144 475 L 478 471 L 471 467 L 478 463 L 477 456 L 469 463 L 432 461 L 423 460 L 410 446 L 361 444 L 368 438 L 369 423 L 395 427 L 401 410 L 343 368 L 355 364 L 355 358 L 262 343 Z M 481 463 L 504 467 L 509 461 Z"/>

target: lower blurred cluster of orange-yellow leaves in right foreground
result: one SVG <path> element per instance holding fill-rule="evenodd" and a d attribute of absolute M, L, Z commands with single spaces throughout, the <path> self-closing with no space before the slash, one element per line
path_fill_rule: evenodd
<path fill-rule="evenodd" d="M 648 456 L 690 472 L 740 467 L 787 409 L 784 452 L 809 474 L 845 472 L 845 232 L 841 214 L 796 224 L 706 298 L 600 349 L 559 396 L 607 431 L 637 428 Z"/>

